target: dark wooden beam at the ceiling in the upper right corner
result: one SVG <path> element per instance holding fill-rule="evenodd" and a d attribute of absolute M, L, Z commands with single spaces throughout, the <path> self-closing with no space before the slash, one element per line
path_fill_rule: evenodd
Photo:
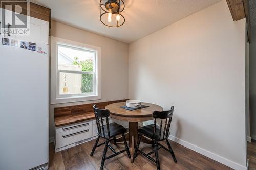
<path fill-rule="evenodd" d="M 234 21 L 246 18 L 247 41 L 250 42 L 250 16 L 248 0 L 226 0 Z"/>

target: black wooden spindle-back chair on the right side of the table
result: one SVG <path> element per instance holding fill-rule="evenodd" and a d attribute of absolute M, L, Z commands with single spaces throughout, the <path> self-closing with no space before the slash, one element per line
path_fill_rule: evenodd
<path fill-rule="evenodd" d="M 157 164 L 157 169 L 160 170 L 160 161 L 159 161 L 159 157 L 158 157 L 158 150 L 160 148 L 163 148 L 163 149 L 167 150 L 168 152 L 170 152 L 170 154 L 172 155 L 172 157 L 174 159 L 174 162 L 177 163 L 173 149 L 170 146 L 170 143 L 168 141 L 168 137 L 170 135 L 170 132 L 169 132 L 170 123 L 172 122 L 173 112 L 174 112 L 173 106 L 168 111 L 162 111 L 162 112 L 154 111 L 153 112 L 153 117 L 155 118 L 154 124 L 144 126 L 138 130 L 139 140 L 137 142 L 136 149 L 134 152 L 134 158 L 136 158 L 138 155 L 138 152 L 140 152 L 143 156 L 145 156 L 146 158 L 155 162 Z M 161 119 L 160 127 L 157 125 L 157 119 Z M 165 120 L 164 128 L 162 126 L 163 119 Z M 154 149 L 147 154 L 142 152 L 141 150 L 139 150 L 139 145 L 140 145 L 140 140 L 141 140 L 142 135 L 146 136 L 147 138 L 150 138 L 153 143 Z M 158 143 L 159 141 L 163 141 L 163 140 L 166 140 L 166 143 L 167 143 L 169 149 L 165 148 L 162 144 Z M 150 157 L 150 155 L 153 153 L 155 153 L 156 160 L 153 159 L 152 157 Z"/>

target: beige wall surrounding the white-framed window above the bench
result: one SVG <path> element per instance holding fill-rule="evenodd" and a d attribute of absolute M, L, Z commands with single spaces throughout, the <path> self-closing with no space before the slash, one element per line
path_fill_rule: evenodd
<path fill-rule="evenodd" d="M 51 35 L 101 47 L 101 100 L 50 105 L 50 139 L 54 137 L 54 107 L 128 97 L 128 44 L 52 21 Z"/>

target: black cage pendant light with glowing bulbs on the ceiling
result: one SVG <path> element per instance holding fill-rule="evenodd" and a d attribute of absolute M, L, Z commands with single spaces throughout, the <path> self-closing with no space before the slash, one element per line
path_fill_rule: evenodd
<path fill-rule="evenodd" d="M 109 27 L 120 27 L 124 24 L 125 18 L 121 14 L 124 10 L 123 0 L 100 0 L 99 2 L 100 21 Z"/>

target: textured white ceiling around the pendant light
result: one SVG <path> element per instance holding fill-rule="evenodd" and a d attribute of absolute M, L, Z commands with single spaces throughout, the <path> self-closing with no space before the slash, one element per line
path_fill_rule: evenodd
<path fill-rule="evenodd" d="M 34 0 L 52 9 L 54 20 L 126 43 L 136 41 L 220 0 L 124 0 L 119 28 L 99 20 L 99 0 Z"/>

